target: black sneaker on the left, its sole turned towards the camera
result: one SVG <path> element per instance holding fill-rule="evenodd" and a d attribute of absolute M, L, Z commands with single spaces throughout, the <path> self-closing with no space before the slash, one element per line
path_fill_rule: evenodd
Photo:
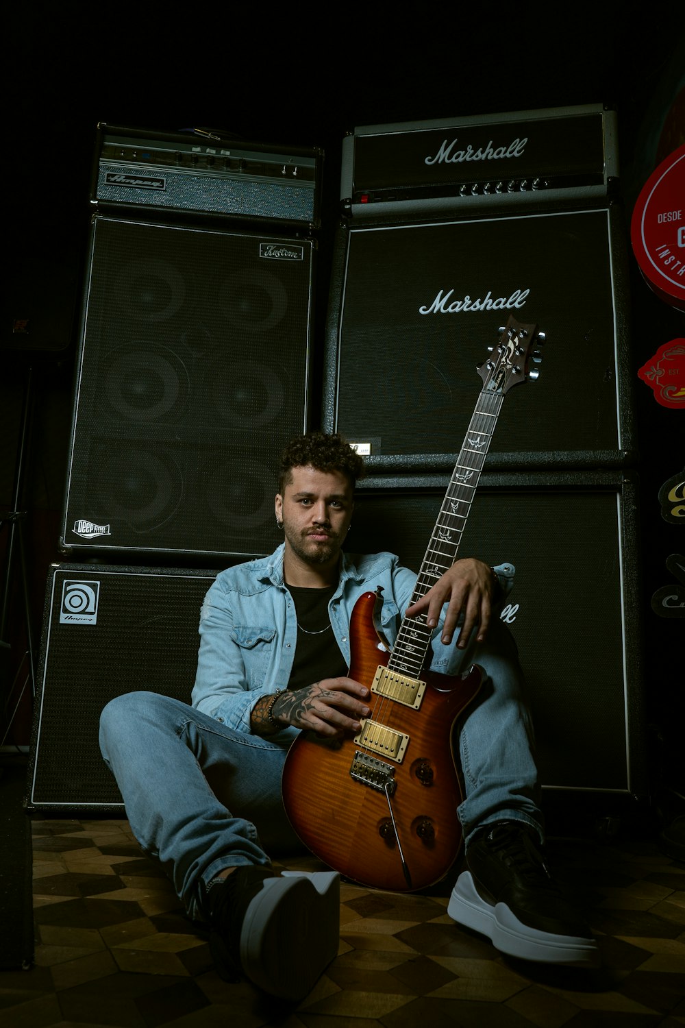
<path fill-rule="evenodd" d="M 228 982 L 242 975 L 272 996 L 299 1000 L 338 954 L 340 875 L 238 867 L 207 891 L 210 947 Z"/>

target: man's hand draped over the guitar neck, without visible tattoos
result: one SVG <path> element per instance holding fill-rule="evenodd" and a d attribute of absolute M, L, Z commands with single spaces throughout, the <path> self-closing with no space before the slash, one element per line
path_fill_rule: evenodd
<path fill-rule="evenodd" d="M 464 621 L 457 635 L 457 647 L 463 650 L 474 628 L 478 627 L 479 642 L 486 637 L 494 586 L 494 574 L 488 564 L 473 557 L 457 560 L 425 596 L 407 608 L 407 617 L 425 614 L 426 625 L 434 628 L 444 604 L 448 603 L 441 639 L 446 645 L 452 641 L 459 617 L 463 614 Z"/>

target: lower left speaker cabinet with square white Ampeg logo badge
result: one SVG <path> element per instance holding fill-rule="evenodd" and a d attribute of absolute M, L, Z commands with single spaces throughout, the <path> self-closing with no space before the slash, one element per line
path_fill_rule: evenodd
<path fill-rule="evenodd" d="M 116 696 L 190 702 L 202 599 L 216 572 L 53 564 L 48 572 L 27 777 L 29 811 L 123 810 L 98 742 Z"/>

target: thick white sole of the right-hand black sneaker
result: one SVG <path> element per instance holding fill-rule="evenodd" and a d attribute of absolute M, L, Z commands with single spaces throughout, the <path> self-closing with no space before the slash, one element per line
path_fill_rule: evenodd
<path fill-rule="evenodd" d="M 538 963 L 598 966 L 594 939 L 556 935 L 523 924 L 502 903 L 487 903 L 478 892 L 469 871 L 464 871 L 452 890 L 447 912 L 459 924 L 487 935 L 495 949 L 522 960 Z"/>

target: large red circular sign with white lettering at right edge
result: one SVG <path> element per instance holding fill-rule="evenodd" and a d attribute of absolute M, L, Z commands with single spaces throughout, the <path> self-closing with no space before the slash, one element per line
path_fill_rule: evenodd
<path fill-rule="evenodd" d="M 633 211 L 631 242 L 647 284 L 685 311 L 685 145 L 643 186 Z"/>

